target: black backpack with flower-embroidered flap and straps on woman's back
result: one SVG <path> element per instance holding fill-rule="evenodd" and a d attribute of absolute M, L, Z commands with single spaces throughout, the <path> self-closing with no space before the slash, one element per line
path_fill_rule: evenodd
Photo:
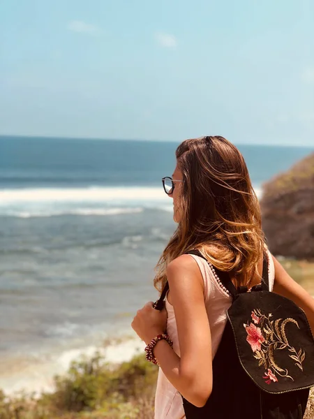
<path fill-rule="evenodd" d="M 188 251 L 202 256 L 200 251 Z M 262 284 L 235 288 L 216 270 L 232 295 L 227 323 L 213 360 L 213 390 L 197 407 L 183 400 L 187 419 L 301 419 L 314 385 L 314 339 L 304 311 L 269 292 L 268 257 Z M 156 309 L 163 307 L 165 284 Z"/>

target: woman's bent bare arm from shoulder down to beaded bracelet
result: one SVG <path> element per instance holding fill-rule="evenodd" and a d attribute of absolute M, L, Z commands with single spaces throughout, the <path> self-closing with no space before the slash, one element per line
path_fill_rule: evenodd
<path fill-rule="evenodd" d="M 182 255 L 167 267 L 177 321 L 181 358 L 166 341 L 154 349 L 167 379 L 188 402 L 201 407 L 212 389 L 211 332 L 204 303 L 203 279 L 192 256 Z"/>

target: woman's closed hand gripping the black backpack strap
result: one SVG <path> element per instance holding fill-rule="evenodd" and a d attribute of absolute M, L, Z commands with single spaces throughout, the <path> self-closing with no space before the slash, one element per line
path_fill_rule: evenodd
<path fill-rule="evenodd" d="M 147 302 L 144 307 L 137 310 L 131 326 L 137 335 L 148 345 L 151 339 L 165 333 L 167 328 L 167 310 L 165 307 L 159 311 L 154 309 L 154 302 Z"/>

